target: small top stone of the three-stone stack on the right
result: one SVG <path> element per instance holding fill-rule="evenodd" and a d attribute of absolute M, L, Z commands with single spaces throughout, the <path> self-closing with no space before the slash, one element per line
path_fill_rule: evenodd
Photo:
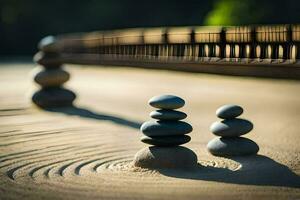
<path fill-rule="evenodd" d="M 216 115 L 222 119 L 231 119 L 240 116 L 243 113 L 243 108 L 238 105 L 228 104 L 221 106 L 217 111 Z"/>

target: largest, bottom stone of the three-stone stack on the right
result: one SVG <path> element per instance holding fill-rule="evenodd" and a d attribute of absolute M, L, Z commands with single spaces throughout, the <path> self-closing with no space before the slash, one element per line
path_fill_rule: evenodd
<path fill-rule="evenodd" d="M 207 144 L 208 151 L 215 156 L 243 156 L 256 154 L 258 145 L 248 138 L 214 138 Z"/>

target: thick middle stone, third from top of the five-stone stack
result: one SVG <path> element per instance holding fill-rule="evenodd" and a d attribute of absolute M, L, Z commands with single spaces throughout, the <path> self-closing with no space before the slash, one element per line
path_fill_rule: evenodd
<path fill-rule="evenodd" d="M 182 121 L 147 121 L 141 131 L 147 136 L 184 135 L 192 132 L 193 127 Z"/>

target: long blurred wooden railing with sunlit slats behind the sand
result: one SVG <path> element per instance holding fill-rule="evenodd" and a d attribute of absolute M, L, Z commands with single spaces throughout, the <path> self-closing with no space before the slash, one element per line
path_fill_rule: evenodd
<path fill-rule="evenodd" d="M 61 54 L 94 54 L 194 61 L 241 59 L 295 63 L 300 58 L 300 25 L 171 27 L 98 31 L 42 40 L 40 49 Z M 248 60 L 249 61 L 249 60 Z"/>

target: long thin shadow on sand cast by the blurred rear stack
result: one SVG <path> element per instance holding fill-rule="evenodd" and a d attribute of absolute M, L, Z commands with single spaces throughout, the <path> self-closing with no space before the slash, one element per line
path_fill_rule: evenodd
<path fill-rule="evenodd" d="M 108 114 L 104 114 L 104 113 L 95 113 L 88 109 L 80 108 L 80 107 L 76 107 L 76 106 L 68 106 L 68 107 L 61 107 L 61 108 L 44 108 L 44 110 L 47 110 L 50 112 L 64 113 L 67 115 L 80 116 L 80 117 L 84 117 L 84 118 L 96 119 L 96 120 L 111 121 L 115 124 L 122 125 L 122 126 L 128 126 L 130 128 L 134 128 L 134 129 L 139 129 L 141 126 L 140 122 L 127 120 L 125 118 L 112 116 L 112 115 L 108 115 Z"/>

